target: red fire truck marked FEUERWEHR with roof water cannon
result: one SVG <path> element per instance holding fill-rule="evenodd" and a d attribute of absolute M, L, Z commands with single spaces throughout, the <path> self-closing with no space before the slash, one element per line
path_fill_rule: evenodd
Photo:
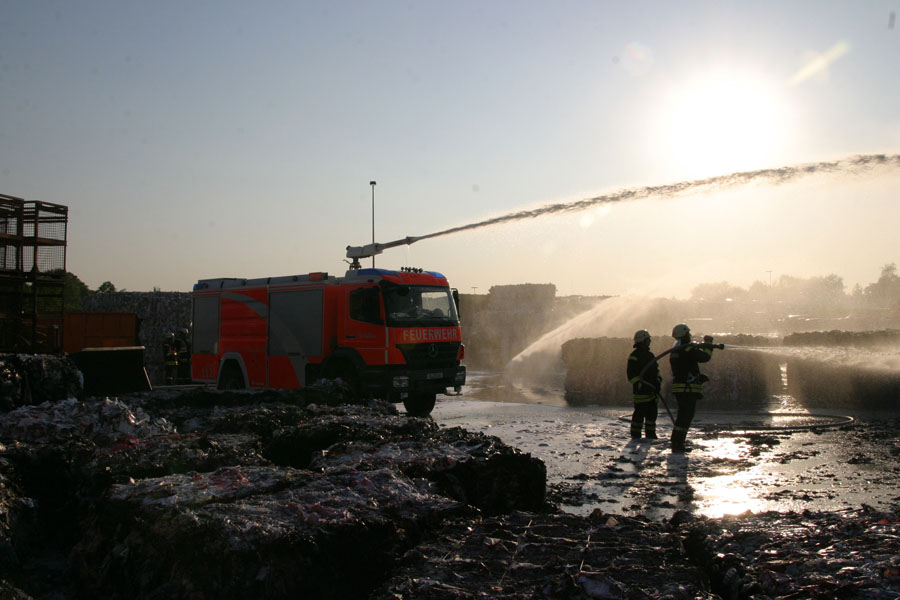
<path fill-rule="evenodd" d="M 192 378 L 220 389 L 341 379 L 362 397 L 402 401 L 409 414 L 428 415 L 436 394 L 458 393 L 466 381 L 458 294 L 440 273 L 359 264 L 416 239 L 348 246 L 344 277 L 198 281 Z"/>

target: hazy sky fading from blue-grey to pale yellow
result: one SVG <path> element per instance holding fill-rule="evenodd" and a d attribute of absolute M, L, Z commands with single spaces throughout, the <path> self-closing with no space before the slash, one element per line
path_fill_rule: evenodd
<path fill-rule="evenodd" d="M 345 246 L 900 151 L 900 0 L 0 0 L 0 193 L 91 288 L 340 274 Z M 376 265 L 686 296 L 900 263 L 900 173 L 608 205 Z M 366 261 L 370 264 L 370 261 Z M 771 272 L 771 273 L 770 273 Z"/>

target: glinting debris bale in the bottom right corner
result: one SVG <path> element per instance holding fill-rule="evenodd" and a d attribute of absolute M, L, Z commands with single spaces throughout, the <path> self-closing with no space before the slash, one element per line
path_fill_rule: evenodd
<path fill-rule="evenodd" d="M 900 512 L 769 512 L 676 524 L 718 598 L 898 598 Z"/>

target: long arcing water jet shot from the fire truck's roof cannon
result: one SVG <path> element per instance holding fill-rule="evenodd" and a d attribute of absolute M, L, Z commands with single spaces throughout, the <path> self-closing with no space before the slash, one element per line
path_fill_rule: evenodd
<path fill-rule="evenodd" d="M 485 219 L 468 225 L 451 227 L 443 231 L 418 236 L 417 240 L 424 240 L 451 233 L 459 233 L 471 229 L 480 229 L 492 225 L 500 225 L 523 219 L 536 219 L 544 215 L 556 213 L 573 213 L 589 208 L 611 204 L 614 202 L 628 202 L 645 198 L 673 198 L 692 192 L 708 192 L 714 189 L 731 188 L 752 183 L 765 183 L 769 185 L 781 185 L 791 183 L 804 177 L 814 175 L 859 175 L 871 173 L 875 170 L 893 170 L 900 168 L 900 154 L 864 154 L 850 156 L 831 162 L 806 163 L 791 165 L 774 169 L 759 169 L 756 171 L 742 171 L 729 175 L 716 175 L 706 179 L 682 181 L 664 185 L 646 186 L 619 190 L 611 194 L 574 200 L 571 202 L 557 202 L 547 204 L 534 209 L 521 210 L 499 217 Z"/>

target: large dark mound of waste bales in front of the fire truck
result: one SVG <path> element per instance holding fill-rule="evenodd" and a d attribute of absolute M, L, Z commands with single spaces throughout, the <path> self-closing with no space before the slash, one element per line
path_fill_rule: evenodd
<path fill-rule="evenodd" d="M 94 597 L 353 597 L 448 516 L 544 505 L 543 463 L 497 438 L 312 399 L 168 391 L 0 414 L 0 474 L 19 482 L 0 502 L 39 529 L 0 529 L 5 564 L 62 553 Z"/>

